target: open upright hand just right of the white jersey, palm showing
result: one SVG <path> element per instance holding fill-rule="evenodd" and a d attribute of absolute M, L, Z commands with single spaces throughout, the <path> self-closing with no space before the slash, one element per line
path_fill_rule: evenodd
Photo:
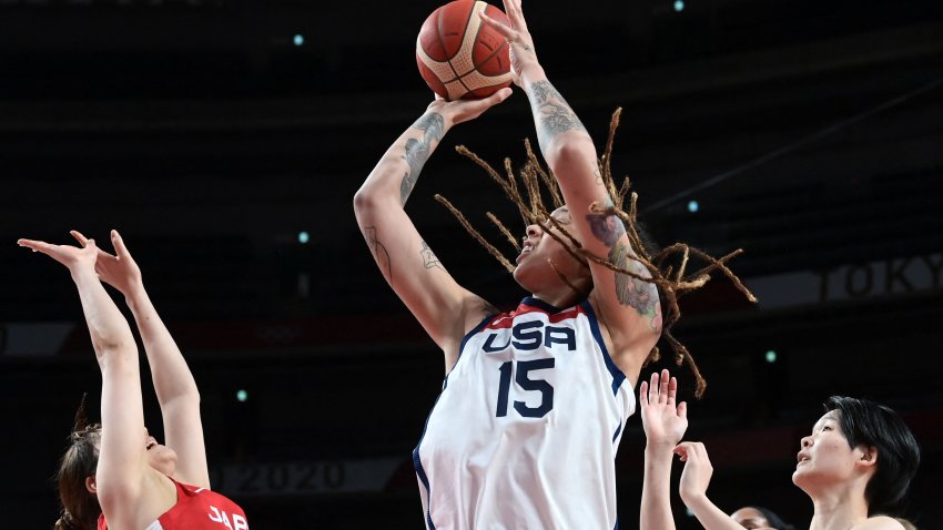
<path fill-rule="evenodd" d="M 639 386 L 641 425 L 650 446 L 662 445 L 673 448 L 688 429 L 688 407 L 685 401 L 676 406 L 678 379 L 670 377 L 667 369 L 651 374 L 651 383 Z"/>

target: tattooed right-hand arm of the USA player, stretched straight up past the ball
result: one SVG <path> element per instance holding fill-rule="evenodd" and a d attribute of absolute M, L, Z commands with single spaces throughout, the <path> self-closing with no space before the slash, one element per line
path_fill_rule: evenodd
<path fill-rule="evenodd" d="M 622 222 L 615 215 L 590 214 L 590 205 L 611 206 L 599 170 L 596 146 L 586 128 L 564 96 L 547 79 L 537 60 L 534 40 L 527 30 L 520 0 L 505 0 L 510 27 L 481 14 L 483 20 L 501 32 L 510 44 L 511 68 L 516 82 L 527 93 L 540 151 L 554 172 L 585 248 L 608 258 L 621 268 L 649 277 L 648 271 L 632 259 Z M 594 292 L 590 297 L 612 340 L 616 363 L 629 377 L 641 369 L 651 347 L 661 334 L 661 309 L 655 285 L 590 263 Z"/>

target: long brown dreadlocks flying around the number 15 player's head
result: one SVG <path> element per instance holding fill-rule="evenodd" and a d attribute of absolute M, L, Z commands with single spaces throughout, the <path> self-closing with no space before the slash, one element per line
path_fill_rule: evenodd
<path fill-rule="evenodd" d="M 703 396 L 704 389 L 707 388 L 707 381 L 703 376 L 701 376 L 700 370 L 698 369 L 698 365 L 694 361 L 694 358 L 691 356 L 688 348 L 685 347 L 675 336 L 671 334 L 671 328 L 681 317 L 681 309 L 678 306 L 678 298 L 681 296 L 696 291 L 702 287 L 708 279 L 710 279 L 710 274 L 718 271 L 724 276 L 727 276 L 731 283 L 737 287 L 738 291 L 743 293 L 743 295 L 750 302 L 757 302 L 757 298 L 748 289 L 740 278 L 733 274 L 732 271 L 727 266 L 727 262 L 732 259 L 733 257 L 740 255 L 743 251 L 738 248 L 723 257 L 716 258 L 710 256 L 703 251 L 691 247 L 683 243 L 675 243 L 669 245 L 668 247 L 661 249 L 657 254 L 652 255 L 642 243 L 642 237 L 639 235 L 638 224 L 636 222 L 636 215 L 638 213 L 638 208 L 636 206 L 638 201 L 638 195 L 635 192 L 629 194 L 631 184 L 629 179 L 626 177 L 619 187 L 616 187 L 616 182 L 612 179 L 612 169 L 611 169 L 611 157 L 612 157 L 612 142 L 616 137 L 616 130 L 619 126 L 619 119 L 621 116 L 622 110 L 616 109 L 612 113 L 612 119 L 609 122 L 609 136 L 606 141 L 606 151 L 602 153 L 602 156 L 599 159 L 599 171 L 602 174 L 602 181 L 606 185 L 607 191 L 609 192 L 609 196 L 612 198 L 611 205 L 602 205 L 599 203 L 594 203 L 590 206 L 590 211 L 597 215 L 615 215 L 622 221 L 626 226 L 626 233 L 629 237 L 629 243 L 631 244 L 631 248 L 635 251 L 635 255 L 629 254 L 629 258 L 640 263 L 650 274 L 650 277 L 639 275 L 637 272 L 629 271 L 622 266 L 619 266 L 612 263 L 611 259 L 607 259 L 596 254 L 587 251 L 582 247 L 579 241 L 560 223 L 557 222 L 551 215 L 550 211 L 547 206 L 544 205 L 544 200 L 541 196 L 541 186 L 549 193 L 554 207 L 558 208 L 564 205 L 564 201 L 560 194 L 559 185 L 557 184 L 556 179 L 554 179 L 552 173 L 549 169 L 545 170 L 540 164 L 537 155 L 534 153 L 534 150 L 530 146 L 530 141 L 524 141 L 524 147 L 527 152 L 527 162 L 524 167 L 520 170 L 519 175 L 515 176 L 514 169 L 511 166 L 510 159 L 505 159 L 504 161 L 504 170 L 505 175 L 498 173 L 494 167 L 491 167 L 487 162 L 481 160 L 478 155 L 469 151 L 464 145 L 456 146 L 456 151 L 464 156 L 467 156 L 480 167 L 483 167 L 487 174 L 501 187 L 505 192 L 505 195 L 517 205 L 518 213 L 520 214 L 521 220 L 525 225 L 537 224 L 541 228 L 544 228 L 545 233 L 557 239 L 570 255 L 572 255 L 578 262 L 587 265 L 589 262 L 596 263 L 604 267 L 607 267 L 614 271 L 617 274 L 622 274 L 629 276 L 633 279 L 638 279 L 646 283 L 655 284 L 659 293 L 662 295 L 663 306 L 667 308 L 665 312 L 665 323 L 662 329 L 662 336 L 671 346 L 671 349 L 675 351 L 675 361 L 678 366 L 687 363 L 691 369 L 691 373 L 694 376 L 697 381 L 697 387 L 694 390 L 694 396 L 700 398 Z M 518 177 L 520 183 L 524 185 L 524 191 L 526 193 L 526 198 L 521 195 L 520 187 L 518 185 Z M 626 198 L 629 198 L 628 210 L 626 210 L 625 203 Z M 511 265 L 510 261 L 505 257 L 500 251 L 498 251 L 494 245 L 488 243 L 485 237 L 477 231 L 472 224 L 465 218 L 465 215 L 455 207 L 447 198 L 442 195 L 435 195 L 436 201 L 442 203 L 449 212 L 458 220 L 462 226 L 478 242 L 487 248 L 487 251 L 500 262 L 501 265 L 509 272 L 514 272 L 514 265 Z M 507 226 L 498 220 L 493 213 L 487 212 L 485 214 L 500 233 L 507 238 L 507 241 L 514 246 L 516 251 L 520 251 L 520 245 L 517 239 L 514 237 L 511 232 L 507 228 Z M 555 227 L 559 231 L 558 235 L 554 231 L 548 230 L 549 227 Z M 688 264 L 690 258 L 697 258 L 700 262 L 703 262 L 706 265 L 701 268 L 694 271 L 693 273 L 689 273 Z M 552 263 L 550 264 L 552 266 Z M 582 292 L 575 287 L 568 278 L 564 277 L 556 267 L 554 271 L 557 275 L 574 291 L 581 293 L 584 295 L 588 295 L 588 293 Z M 658 347 L 653 347 L 646 359 L 646 365 L 651 361 L 657 361 L 660 359 L 660 353 Z"/>

